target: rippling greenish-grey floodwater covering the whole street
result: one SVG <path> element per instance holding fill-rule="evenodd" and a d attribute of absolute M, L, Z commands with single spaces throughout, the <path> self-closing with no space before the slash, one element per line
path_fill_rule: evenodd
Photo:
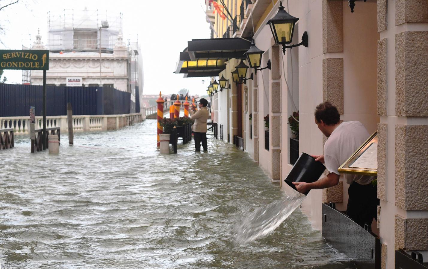
<path fill-rule="evenodd" d="M 285 197 L 247 153 L 209 136 L 159 155 L 156 122 L 61 136 L 59 155 L 27 137 L 0 151 L 2 268 L 353 268 L 299 209 L 267 237 L 235 243 L 250 212 Z"/>

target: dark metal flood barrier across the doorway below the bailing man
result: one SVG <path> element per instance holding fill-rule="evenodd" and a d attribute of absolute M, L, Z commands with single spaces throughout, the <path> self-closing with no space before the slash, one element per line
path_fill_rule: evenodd
<path fill-rule="evenodd" d="M 345 214 L 322 205 L 322 235 L 327 243 L 354 260 L 357 268 L 380 268 L 380 240 Z"/>

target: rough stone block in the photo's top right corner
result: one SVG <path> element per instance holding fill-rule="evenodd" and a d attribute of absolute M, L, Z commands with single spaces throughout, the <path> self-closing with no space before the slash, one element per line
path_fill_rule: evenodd
<path fill-rule="evenodd" d="M 395 0 L 395 25 L 428 22 L 426 0 Z"/>

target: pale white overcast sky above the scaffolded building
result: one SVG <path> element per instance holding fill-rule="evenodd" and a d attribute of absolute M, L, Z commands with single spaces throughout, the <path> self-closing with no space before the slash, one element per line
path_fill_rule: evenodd
<path fill-rule="evenodd" d="M 107 10 L 109 15 L 123 14 L 124 39 L 138 40 L 143 52 L 144 94 L 177 93 L 182 88 L 191 94 L 206 94 L 209 78 L 183 78 L 174 74 L 179 53 L 187 41 L 210 38 L 209 24 L 205 20 L 204 0 L 21 0 L 0 11 L 0 23 L 6 33 L 0 36 L 1 49 L 21 49 L 34 41 L 40 28 L 42 41 L 47 43 L 48 16 L 62 14 L 63 9 Z M 21 2 L 20 1 L 20 2 Z M 1 1 L 2 4 L 7 0 Z M 202 9 L 202 7 L 203 9 Z M 21 83 L 20 70 L 5 70 L 9 83 Z M 202 84 L 202 80 L 205 84 Z"/>

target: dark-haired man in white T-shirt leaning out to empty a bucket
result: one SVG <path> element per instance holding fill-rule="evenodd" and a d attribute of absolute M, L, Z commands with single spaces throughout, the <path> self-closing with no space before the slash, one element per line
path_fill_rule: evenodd
<path fill-rule="evenodd" d="M 316 107 L 315 123 L 328 139 L 324 144 L 324 155 L 312 155 L 312 157 L 325 164 L 329 174 L 312 183 L 293 182 L 301 193 L 339 184 L 340 173 L 337 170 L 370 137 L 366 127 L 359 121 L 340 123 L 339 112 L 330 102 L 323 102 Z M 344 176 L 346 182 L 350 184 L 346 214 L 359 225 L 370 226 L 373 218 L 377 218 L 377 205 L 379 205 L 376 186 L 371 184 L 375 178 L 354 174 Z"/>

